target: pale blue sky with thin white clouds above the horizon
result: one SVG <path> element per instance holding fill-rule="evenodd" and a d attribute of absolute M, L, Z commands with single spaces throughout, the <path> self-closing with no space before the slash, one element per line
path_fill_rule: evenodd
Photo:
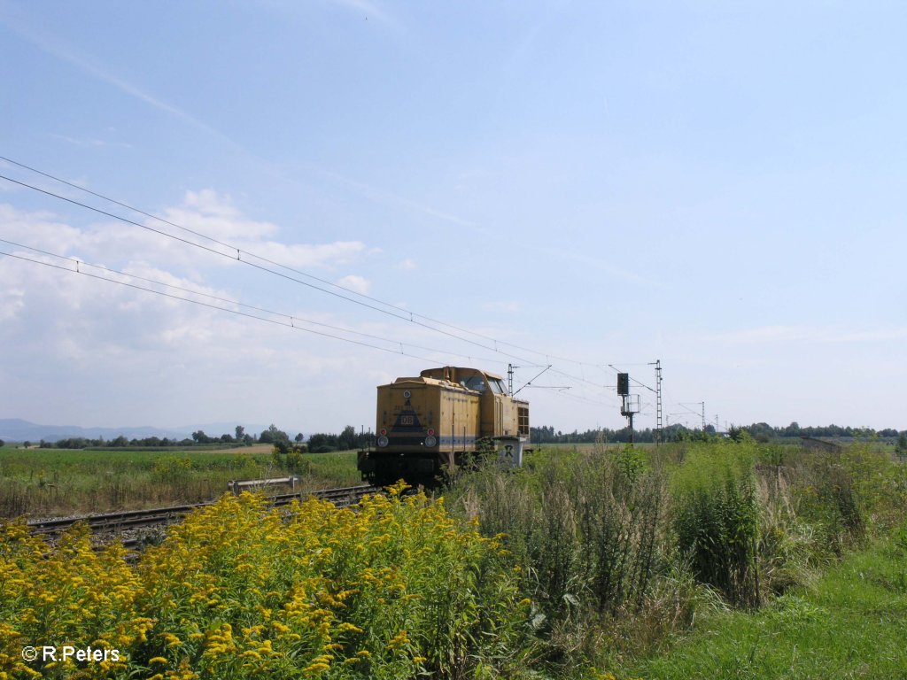
<path fill-rule="evenodd" d="M 654 427 L 660 361 L 666 424 L 905 429 L 905 25 L 0 0 L 0 418 L 367 430 L 511 364 L 534 425 L 623 427 L 624 371 Z"/>

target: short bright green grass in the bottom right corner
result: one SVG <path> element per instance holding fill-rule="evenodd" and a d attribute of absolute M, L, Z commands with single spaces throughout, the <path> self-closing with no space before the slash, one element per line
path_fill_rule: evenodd
<path fill-rule="evenodd" d="M 756 613 L 708 616 L 621 672 L 664 680 L 907 678 L 905 643 L 907 551 L 887 539 Z"/>

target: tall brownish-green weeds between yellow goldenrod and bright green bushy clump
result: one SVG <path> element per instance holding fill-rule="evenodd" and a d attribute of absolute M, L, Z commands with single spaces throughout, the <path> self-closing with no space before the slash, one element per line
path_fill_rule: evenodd
<path fill-rule="evenodd" d="M 688 617 L 666 611 L 678 604 L 667 587 L 678 575 L 668 575 L 665 484 L 639 451 L 537 457 L 523 471 L 490 465 L 460 478 L 445 498 L 484 534 L 502 536 L 552 665 L 600 663 L 604 640 L 650 637 L 640 635 L 644 625 L 622 628 L 629 617 L 652 620 L 658 609 L 658 626 Z"/>

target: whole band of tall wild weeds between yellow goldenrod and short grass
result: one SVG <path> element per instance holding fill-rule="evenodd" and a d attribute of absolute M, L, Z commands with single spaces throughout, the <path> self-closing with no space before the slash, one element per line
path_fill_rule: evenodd
<path fill-rule="evenodd" d="M 697 611 L 754 610 L 815 583 L 902 521 L 904 466 L 872 446 L 683 442 L 658 450 L 545 450 L 444 491 L 502 535 L 559 673 L 658 649 Z"/>

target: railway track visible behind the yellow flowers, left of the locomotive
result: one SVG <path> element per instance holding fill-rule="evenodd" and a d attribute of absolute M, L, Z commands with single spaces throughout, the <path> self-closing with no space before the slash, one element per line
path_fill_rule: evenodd
<path fill-rule="evenodd" d="M 380 487 L 362 485 L 312 491 L 306 494 L 281 493 L 276 496 L 269 496 L 268 500 L 272 507 L 280 507 L 288 505 L 300 498 L 305 499 L 308 496 L 315 496 L 322 500 L 330 500 L 337 507 L 344 507 L 346 505 L 355 504 L 363 496 L 380 491 Z M 180 521 L 192 510 L 204 508 L 215 502 L 217 501 L 208 500 L 201 503 L 190 503 L 189 505 L 173 505 L 167 508 L 106 512 L 102 514 L 83 515 L 81 517 L 69 517 L 60 520 L 39 520 L 28 522 L 28 529 L 35 536 L 46 536 L 50 539 L 54 539 L 55 536 L 58 536 L 66 529 L 71 528 L 74 524 L 85 522 L 88 524 L 89 529 L 95 534 L 123 533 L 131 531 L 132 529 L 147 529 L 172 524 Z M 130 544 L 137 544 L 137 542 L 138 539 L 124 539 L 123 541 L 127 547 L 131 547 Z"/>

